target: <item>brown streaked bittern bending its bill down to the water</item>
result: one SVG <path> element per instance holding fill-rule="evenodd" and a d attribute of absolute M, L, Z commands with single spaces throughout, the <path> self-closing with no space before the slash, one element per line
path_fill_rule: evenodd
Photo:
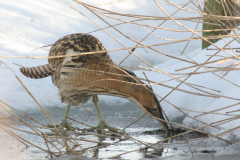
<path fill-rule="evenodd" d="M 101 52 L 93 54 L 97 51 Z M 64 55 L 65 57 L 52 58 Z M 29 78 L 52 77 L 62 102 L 67 103 L 64 118 L 60 123 L 63 127 L 71 128 L 67 120 L 70 106 L 84 104 L 93 97 L 99 117 L 96 128 L 114 130 L 102 118 L 97 95 L 126 98 L 151 117 L 165 120 L 153 90 L 140 81 L 132 71 L 117 66 L 96 37 L 85 33 L 64 36 L 52 45 L 48 56 L 49 64 L 21 67 L 20 71 Z M 157 121 L 169 135 L 167 123 L 159 119 Z"/>

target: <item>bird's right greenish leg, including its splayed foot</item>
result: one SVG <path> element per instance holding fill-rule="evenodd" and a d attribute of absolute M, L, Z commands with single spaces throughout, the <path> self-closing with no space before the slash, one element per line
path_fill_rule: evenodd
<path fill-rule="evenodd" d="M 90 129 L 83 129 L 83 131 L 88 131 L 88 132 L 93 132 L 94 130 L 96 130 L 97 128 L 100 128 L 101 131 L 103 131 L 104 129 L 109 129 L 109 131 L 113 131 L 113 132 L 117 132 L 118 129 L 117 128 L 114 128 L 114 127 L 110 127 L 108 126 L 103 118 L 102 118 L 102 114 L 101 114 L 101 111 L 100 111 L 100 107 L 99 107 L 99 100 L 98 100 L 98 96 L 97 95 L 94 95 L 93 96 L 93 103 L 98 111 L 98 117 L 99 117 L 99 123 L 96 127 L 92 127 Z"/>

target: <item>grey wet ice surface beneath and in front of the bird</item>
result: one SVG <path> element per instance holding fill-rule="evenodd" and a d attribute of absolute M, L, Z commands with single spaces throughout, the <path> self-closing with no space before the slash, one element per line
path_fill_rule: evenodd
<path fill-rule="evenodd" d="M 88 102 L 87 104 L 84 105 L 89 111 L 93 112 L 94 114 L 97 114 L 97 111 L 95 110 L 94 105 L 92 102 Z M 143 112 L 135 106 L 131 102 L 125 102 L 125 103 L 114 103 L 114 105 L 104 103 L 103 101 L 100 101 L 100 108 L 102 111 L 102 115 L 104 120 L 120 129 L 123 129 L 126 127 L 128 124 L 133 122 L 135 119 L 140 117 Z M 45 109 L 58 121 L 61 122 L 62 117 L 64 115 L 65 109 L 64 107 L 45 107 Z M 44 113 L 39 109 L 36 108 L 34 110 L 25 110 L 23 111 L 24 114 L 34 118 L 35 120 L 47 125 L 50 124 L 49 121 L 47 120 L 46 116 Z M 35 122 L 32 122 L 28 118 L 24 116 L 20 116 L 23 118 L 25 121 L 32 125 L 36 125 Z M 98 123 L 98 119 L 85 111 L 81 107 L 72 107 L 69 112 L 69 117 L 78 120 L 80 122 L 86 123 L 91 126 L 96 126 Z M 178 120 L 180 120 L 179 118 Z M 73 126 L 79 127 L 79 128 L 86 128 L 86 126 L 70 121 Z M 27 126 L 25 125 L 16 125 L 17 128 L 26 130 L 26 131 L 31 131 Z M 158 141 L 161 141 L 165 133 L 163 130 L 160 130 L 160 124 L 155 121 L 154 119 L 150 118 L 149 116 L 145 116 L 144 118 L 140 119 L 138 122 L 133 124 L 131 127 L 127 128 L 125 131 L 128 135 L 133 137 L 136 141 L 140 140 L 143 142 L 148 142 L 148 143 L 157 143 Z M 45 134 L 49 135 L 54 135 L 52 134 L 53 132 L 42 129 L 42 132 Z M 40 138 L 39 136 L 28 134 L 28 133 L 23 133 L 23 132 L 16 132 L 18 135 L 23 137 L 24 139 L 28 140 L 29 142 L 33 143 L 36 146 L 39 146 L 41 148 L 47 149 L 45 140 L 43 138 Z M 99 137 L 95 135 L 76 135 L 76 134 L 71 134 L 72 137 L 74 138 L 81 138 L 83 140 L 92 140 L 92 141 L 99 141 Z M 188 136 L 183 136 L 183 137 L 177 137 L 173 139 L 172 141 L 169 141 L 168 143 L 164 143 L 162 145 L 153 145 L 152 147 L 148 148 L 147 150 L 138 150 L 140 148 L 144 148 L 145 146 L 143 144 L 140 144 L 136 141 L 133 140 L 122 140 L 119 141 L 119 139 L 111 139 L 111 138 L 105 138 L 102 142 L 105 143 L 114 143 L 112 145 L 98 145 L 96 143 L 90 143 L 86 141 L 78 141 L 79 144 L 83 148 L 88 148 L 88 147 L 94 147 L 92 149 L 87 149 L 86 151 L 82 152 L 82 150 L 78 147 L 78 149 L 84 158 L 86 159 L 94 159 L 94 158 L 109 158 L 109 157 L 114 157 L 116 155 L 133 151 L 133 150 L 138 150 L 135 152 L 131 152 L 128 154 L 121 155 L 120 157 L 115 157 L 115 158 L 121 158 L 121 159 L 151 159 L 151 158 L 157 158 L 157 159 L 171 159 L 171 158 L 181 158 L 181 159 L 188 159 L 188 158 L 194 158 L 194 157 L 199 157 L 203 159 L 214 159 L 216 156 L 220 156 L 220 158 L 224 158 L 227 155 L 239 155 L 240 147 L 239 147 L 239 140 L 238 139 L 232 139 L 231 141 L 234 141 L 236 144 L 234 145 L 228 145 L 225 142 L 221 142 L 219 140 L 213 140 L 209 141 L 206 144 L 200 146 L 199 148 L 193 150 L 193 157 L 191 152 L 188 152 L 186 155 L 181 156 L 183 153 L 189 151 L 189 146 L 191 148 L 194 148 L 195 146 L 201 144 L 205 140 L 200 140 L 196 142 L 192 142 L 188 144 L 186 143 L 185 140 L 191 140 L 195 138 L 204 138 L 206 137 L 203 134 L 199 133 L 191 133 L 188 134 Z M 123 138 L 123 137 L 122 137 Z M 234 138 L 234 137 L 233 137 Z M 180 143 L 180 144 L 175 144 L 175 143 Z M 51 151 L 57 152 L 56 149 L 50 146 Z M 63 153 L 66 151 L 64 148 L 61 148 Z M 24 149 L 24 151 L 20 154 L 18 157 L 19 159 L 49 159 L 51 158 L 49 154 L 46 152 L 30 145 L 27 149 Z M 57 159 L 75 159 L 74 155 L 71 153 L 64 154 L 61 157 L 57 157 Z M 229 158 L 229 157 L 228 157 Z M 232 157 L 235 158 L 235 157 Z M 83 159 L 83 157 L 81 157 Z M 218 158 L 219 159 L 219 158 Z"/>

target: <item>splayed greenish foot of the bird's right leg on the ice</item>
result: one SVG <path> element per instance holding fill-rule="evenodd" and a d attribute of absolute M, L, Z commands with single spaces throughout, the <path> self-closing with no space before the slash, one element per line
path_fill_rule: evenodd
<path fill-rule="evenodd" d="M 81 129 L 82 132 L 100 132 L 100 133 L 105 133 L 105 129 L 108 129 L 111 132 L 118 132 L 118 129 L 115 127 L 110 127 L 108 126 L 104 121 L 99 121 L 98 125 L 96 127 L 91 127 L 89 129 Z"/>

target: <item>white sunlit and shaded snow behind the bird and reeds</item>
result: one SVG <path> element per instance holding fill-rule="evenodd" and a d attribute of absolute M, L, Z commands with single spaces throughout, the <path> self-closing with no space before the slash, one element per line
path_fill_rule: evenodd
<path fill-rule="evenodd" d="M 90 4 L 100 3 L 96 0 L 88 0 L 84 1 Z M 101 1 L 103 3 L 109 3 L 110 1 L 105 0 Z M 185 4 L 186 0 L 173 0 L 173 3 Z M 107 26 L 104 22 L 98 19 L 95 15 L 90 13 L 86 8 L 77 4 L 71 0 L 41 0 L 41 1 L 31 1 L 31 0 L 9 0 L 4 1 L 0 0 L 0 55 L 1 56 L 36 56 L 36 57 L 46 57 L 48 55 L 47 48 L 40 48 L 35 50 L 36 48 L 53 44 L 57 39 L 61 38 L 64 35 L 72 34 L 72 33 L 88 33 L 94 30 L 99 29 L 97 25 L 92 23 L 86 17 L 82 16 L 77 11 L 71 9 L 70 7 L 74 6 L 79 9 L 84 14 L 88 15 L 92 20 L 97 22 L 102 27 Z M 177 9 L 173 6 L 161 4 L 161 6 L 166 9 L 169 14 L 174 13 Z M 165 16 L 165 14 L 156 7 L 153 1 L 147 2 L 144 0 L 131 0 L 131 1 L 123 1 L 120 3 L 108 4 L 108 5 L 98 5 L 98 7 L 102 7 L 104 9 L 112 10 L 120 13 L 127 14 L 140 14 L 140 15 L 158 15 Z M 113 15 L 110 15 L 113 16 Z M 175 15 L 175 17 L 188 17 L 188 16 L 197 16 L 197 14 L 189 12 L 181 11 Z M 118 18 L 125 19 L 125 17 L 116 16 Z M 117 20 L 112 20 L 110 18 L 104 18 L 111 24 L 119 23 Z M 126 18 L 127 20 L 133 20 L 130 18 Z M 182 24 L 187 27 L 194 29 L 195 23 L 180 21 Z M 159 21 L 143 21 L 139 23 L 144 23 L 151 26 L 158 26 Z M 166 22 L 161 27 L 171 28 L 171 29 L 179 29 L 183 30 L 183 27 L 177 25 L 172 21 Z M 140 41 L 144 38 L 149 32 L 144 29 L 143 26 L 138 26 L 134 24 L 124 24 L 116 27 L 121 32 L 126 34 L 127 36 Z M 149 30 L 152 28 L 147 27 Z M 197 28 L 201 29 L 201 25 Z M 116 37 L 121 43 L 123 43 L 127 47 L 133 47 L 136 45 L 135 42 L 125 38 L 118 32 L 113 29 L 107 29 L 114 37 Z M 185 39 L 189 38 L 192 33 L 188 32 L 170 32 L 166 30 L 157 30 L 154 32 L 156 35 L 161 36 L 163 38 L 169 39 Z M 115 40 L 113 40 L 108 34 L 104 31 L 98 31 L 91 33 L 96 36 L 100 41 L 103 42 L 105 48 L 107 50 L 124 48 L 120 44 L 118 44 Z M 231 38 L 225 38 L 224 40 L 220 40 L 216 43 L 217 46 L 223 47 Z M 169 42 L 166 40 L 161 40 L 159 38 L 150 35 L 146 40 L 143 41 L 144 44 L 158 44 Z M 171 45 L 161 45 L 158 47 L 153 47 L 161 52 L 164 52 L 169 55 L 178 56 L 179 58 L 188 59 L 184 55 L 180 56 L 180 52 L 185 47 L 187 42 L 182 43 L 174 43 Z M 233 42 L 230 44 L 231 47 L 238 47 L 238 42 Z M 210 46 L 209 48 L 214 48 Z M 191 57 L 197 63 L 203 63 L 208 58 L 209 55 L 213 55 L 216 50 L 201 50 L 201 41 L 191 41 L 187 50 L 184 53 L 187 54 L 188 57 Z M 231 50 L 228 52 L 233 53 Z M 150 49 L 136 49 L 134 52 L 142 59 L 146 60 L 151 65 L 154 65 L 158 69 L 167 72 L 167 73 L 187 73 L 194 71 L 196 68 L 183 70 L 181 72 L 176 72 L 176 69 L 180 69 L 183 67 L 191 66 L 191 64 L 179 61 L 176 59 L 170 59 L 166 56 L 161 55 L 160 53 L 154 52 Z M 126 55 L 128 55 L 127 51 L 117 51 L 109 53 L 111 58 L 118 64 L 122 61 Z M 217 55 L 229 56 L 228 53 L 221 51 Z M 213 57 L 211 60 L 219 59 L 221 57 Z M 62 106 L 65 107 L 66 104 L 62 104 L 60 98 L 58 97 L 58 90 L 52 84 L 51 78 L 44 78 L 39 80 L 33 80 L 24 77 L 19 71 L 19 65 L 29 67 L 29 66 L 38 66 L 47 63 L 47 59 L 27 59 L 27 58 L 1 58 L 1 61 L 6 63 L 14 70 L 14 72 L 19 76 L 19 78 L 24 82 L 24 84 L 29 88 L 31 93 L 36 97 L 36 99 L 40 102 L 42 106 Z M 212 67 L 223 67 L 229 64 L 234 63 L 235 61 L 230 61 L 224 64 L 211 64 Z M 17 65 L 16 65 L 17 64 Z M 138 68 L 136 65 L 148 67 L 146 64 L 141 62 L 139 59 L 131 55 L 122 66 L 125 67 L 134 67 Z M 199 69 L 200 71 L 206 71 L 206 69 Z M 145 78 L 142 74 L 143 70 L 134 71 L 137 76 Z M 172 77 L 157 72 L 144 71 L 147 77 L 156 82 L 164 82 Z M 240 85 L 240 74 L 239 71 L 231 71 L 224 78 Z M 223 76 L 225 72 L 216 72 L 216 74 Z M 179 77 L 179 75 L 173 75 L 175 77 Z M 34 100 L 30 97 L 30 95 L 26 92 L 26 90 L 22 87 L 22 85 L 15 78 L 15 75 L 3 64 L 0 63 L 0 100 L 8 103 L 9 105 L 21 109 L 28 110 L 37 108 L 38 105 L 34 102 Z M 183 80 L 184 78 L 180 78 Z M 211 89 L 218 90 L 220 92 L 215 92 L 209 89 L 200 88 L 204 91 L 214 93 L 221 96 L 234 97 L 236 99 L 239 98 L 239 87 L 227 82 L 223 78 L 220 78 L 212 73 L 205 73 L 199 75 L 191 76 L 187 81 L 187 83 L 197 84 L 204 87 L 208 87 Z M 175 87 L 179 84 L 179 81 L 173 80 L 170 82 L 164 82 L 163 84 Z M 203 93 L 199 90 L 191 88 L 185 84 L 182 84 L 180 89 L 184 89 L 191 92 Z M 199 88 L 199 87 L 197 87 Z M 154 85 L 153 90 L 160 97 L 165 97 L 170 91 L 170 88 Z M 115 101 L 115 97 L 107 97 L 101 96 L 100 100 L 105 102 Z M 232 105 L 238 103 L 237 100 L 229 99 L 229 98 L 212 98 L 212 97 L 204 97 L 193 95 L 189 93 L 184 93 L 180 91 L 174 91 L 170 94 L 166 100 L 171 102 L 177 107 L 185 108 L 194 111 L 211 111 L 221 107 L 226 107 L 228 105 Z M 126 100 L 118 99 L 118 101 L 122 101 L 122 103 L 126 102 Z M 186 117 L 183 113 L 178 111 L 175 107 L 169 104 L 167 101 L 162 101 L 161 105 L 169 117 L 170 121 L 182 123 L 183 125 L 190 127 L 199 127 L 203 124 L 193 120 L 192 118 Z M 218 111 L 217 113 L 226 113 L 227 111 L 237 110 L 239 108 L 238 105 L 231 107 L 229 109 L 224 109 Z M 185 113 L 189 116 L 193 117 L 200 113 L 190 112 L 185 110 Z M 233 114 L 237 114 L 239 112 L 234 112 Z M 200 116 L 197 119 L 205 122 L 205 123 L 213 123 L 219 121 L 221 119 L 230 118 L 231 116 L 225 115 L 217 115 L 217 114 L 208 114 L 205 116 Z M 182 119 L 179 122 L 179 119 Z M 232 121 L 230 123 L 226 123 L 221 125 L 224 129 L 230 129 L 238 126 L 239 120 Z M 213 129 L 212 127 L 208 127 L 205 129 L 211 133 L 220 133 L 224 130 Z M 236 134 L 236 136 L 239 136 Z"/>

